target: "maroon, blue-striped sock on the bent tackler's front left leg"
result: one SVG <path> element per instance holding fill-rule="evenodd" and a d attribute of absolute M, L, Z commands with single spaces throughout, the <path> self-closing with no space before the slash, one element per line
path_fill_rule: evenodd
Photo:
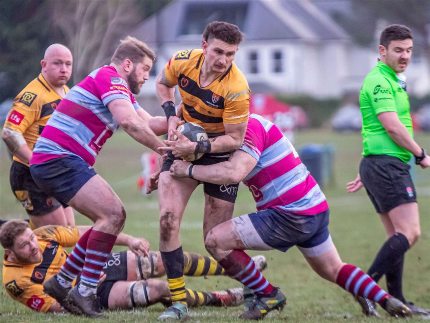
<path fill-rule="evenodd" d="M 256 294 L 270 294 L 274 287 L 255 267 L 254 261 L 244 251 L 234 249 L 227 257 L 219 261 L 225 273 L 240 281 Z"/>

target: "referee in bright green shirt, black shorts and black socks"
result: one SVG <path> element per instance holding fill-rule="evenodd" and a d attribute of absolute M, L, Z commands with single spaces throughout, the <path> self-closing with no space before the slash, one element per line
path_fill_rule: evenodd
<path fill-rule="evenodd" d="M 416 191 L 407 163 L 413 155 L 421 168 L 430 166 L 425 149 L 413 139 L 402 75 L 412 55 L 411 31 L 402 25 L 390 25 L 382 31 L 379 44 L 381 58 L 365 77 L 360 91 L 364 157 L 347 191 L 365 187 L 387 233 L 388 239 L 368 275 L 376 282 L 385 275 L 388 293 L 408 305 L 413 314 L 429 318 L 428 310 L 406 302 L 402 294 L 404 254 L 421 234 Z M 378 315 L 374 304 L 366 299 L 357 301 L 363 313 Z"/>

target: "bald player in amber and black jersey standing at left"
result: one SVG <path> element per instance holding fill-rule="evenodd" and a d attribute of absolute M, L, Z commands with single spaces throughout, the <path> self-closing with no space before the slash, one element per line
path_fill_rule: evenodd
<path fill-rule="evenodd" d="M 72 74 L 72 63 L 72 54 L 64 45 L 52 44 L 46 48 L 40 61 L 42 71 L 15 97 L 2 131 L 2 139 L 13 155 L 10 186 L 33 229 L 47 224 L 75 223 L 72 208 L 63 208 L 54 197 L 44 193 L 31 178 L 28 165 L 46 121 L 69 91 L 66 83 Z"/>

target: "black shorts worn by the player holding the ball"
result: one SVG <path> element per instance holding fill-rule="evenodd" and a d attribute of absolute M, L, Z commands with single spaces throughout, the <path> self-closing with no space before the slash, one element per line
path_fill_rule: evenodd
<path fill-rule="evenodd" d="M 220 157 L 229 155 L 229 153 L 217 153 L 217 154 L 204 154 L 198 160 L 194 160 L 191 163 L 193 165 L 213 165 L 216 163 L 221 163 L 228 160 L 227 157 Z M 161 172 L 168 171 L 170 166 L 172 166 L 173 160 L 180 159 L 174 157 L 172 154 L 169 154 L 169 157 L 164 161 L 163 166 L 161 167 Z M 209 196 L 215 197 L 217 199 L 222 199 L 223 201 L 234 203 L 237 197 L 237 188 L 238 184 L 212 184 L 203 182 L 203 192 L 208 194 Z"/>

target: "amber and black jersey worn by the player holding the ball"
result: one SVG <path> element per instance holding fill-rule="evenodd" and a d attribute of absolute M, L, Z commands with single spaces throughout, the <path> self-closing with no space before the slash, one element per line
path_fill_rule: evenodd
<path fill-rule="evenodd" d="M 200 124 L 208 136 L 225 134 L 224 124 L 240 124 L 249 118 L 248 82 L 236 64 L 208 86 L 200 87 L 202 49 L 178 51 L 164 68 L 167 80 L 178 85 L 187 122 Z"/>

